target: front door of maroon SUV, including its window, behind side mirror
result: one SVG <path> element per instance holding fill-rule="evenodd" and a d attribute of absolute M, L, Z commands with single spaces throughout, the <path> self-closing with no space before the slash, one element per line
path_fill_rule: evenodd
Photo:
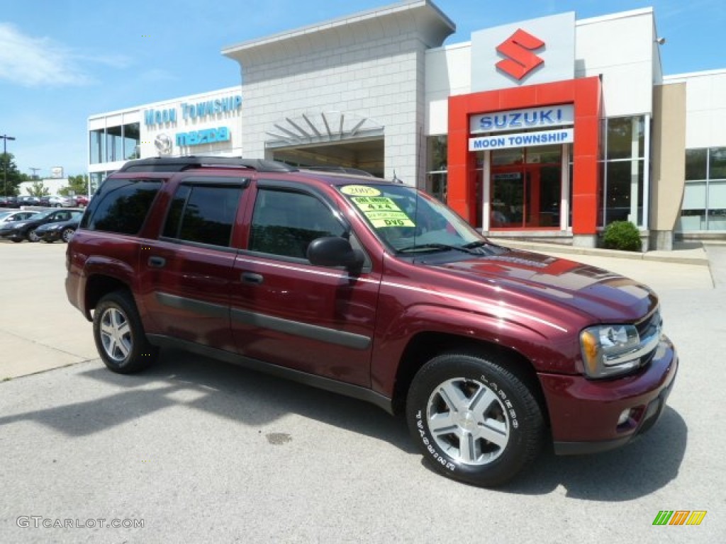
<path fill-rule="evenodd" d="M 258 181 L 248 247 L 235 259 L 232 282 L 232 331 L 242 355 L 370 386 L 380 273 L 370 261 L 351 274 L 306 258 L 312 240 L 347 230 L 324 193 Z"/>

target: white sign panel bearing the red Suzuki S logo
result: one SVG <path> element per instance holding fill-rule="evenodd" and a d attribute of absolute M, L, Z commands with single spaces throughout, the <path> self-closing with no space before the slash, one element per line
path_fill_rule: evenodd
<path fill-rule="evenodd" d="M 471 91 L 492 91 L 575 75 L 575 13 L 471 33 Z"/>

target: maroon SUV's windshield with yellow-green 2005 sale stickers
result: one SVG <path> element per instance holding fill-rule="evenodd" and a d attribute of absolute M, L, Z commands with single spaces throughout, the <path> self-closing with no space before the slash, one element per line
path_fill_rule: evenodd
<path fill-rule="evenodd" d="M 338 188 L 396 252 L 465 249 L 486 242 L 439 200 L 404 185 Z"/>

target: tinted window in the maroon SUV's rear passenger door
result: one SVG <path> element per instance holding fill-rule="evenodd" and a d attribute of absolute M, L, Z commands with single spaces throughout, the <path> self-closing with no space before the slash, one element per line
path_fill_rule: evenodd
<path fill-rule="evenodd" d="M 163 236 L 228 247 L 242 186 L 181 185 L 164 224 Z"/>

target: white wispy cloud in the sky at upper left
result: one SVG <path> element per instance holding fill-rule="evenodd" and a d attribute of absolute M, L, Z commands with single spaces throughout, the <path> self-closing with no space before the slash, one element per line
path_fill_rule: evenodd
<path fill-rule="evenodd" d="M 90 62 L 126 67 L 121 55 L 79 54 L 50 38 L 35 38 L 12 25 L 0 23 L 0 79 L 26 87 L 85 86 L 95 83 L 86 70 Z"/>

